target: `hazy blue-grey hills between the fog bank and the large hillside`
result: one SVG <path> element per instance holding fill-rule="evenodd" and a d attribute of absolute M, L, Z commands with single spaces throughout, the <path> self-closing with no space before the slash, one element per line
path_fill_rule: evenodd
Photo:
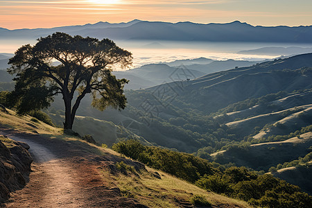
<path fill-rule="evenodd" d="M 208 58 L 197 58 L 193 60 L 176 60 L 166 64 L 146 64 L 136 69 L 114 71 L 113 73 L 117 78 L 130 80 L 130 83 L 125 85 L 125 89 L 145 89 L 162 83 L 171 83 L 177 79 L 187 80 L 189 78 L 193 80 L 207 73 L 234 69 L 235 67 L 247 67 L 256 63 L 241 60 L 214 61 Z M 181 75 L 180 78 L 171 77 L 175 75 L 175 72 L 185 74 Z"/>

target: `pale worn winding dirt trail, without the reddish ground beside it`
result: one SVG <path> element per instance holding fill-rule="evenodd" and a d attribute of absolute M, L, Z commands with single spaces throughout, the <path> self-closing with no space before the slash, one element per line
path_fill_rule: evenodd
<path fill-rule="evenodd" d="M 17 191 L 13 195 L 12 202 L 7 207 L 16 207 L 20 202 L 27 202 L 31 197 L 37 197 L 37 200 L 31 200 L 26 204 L 27 207 L 85 207 L 83 196 L 77 186 L 78 180 L 75 177 L 73 169 L 66 161 L 58 159 L 50 150 L 40 144 L 36 144 L 29 139 L 9 136 L 15 141 L 22 141 L 31 148 L 29 152 L 33 156 L 35 171 L 31 175 L 30 183 L 26 190 Z M 35 177 L 35 178 L 34 178 Z M 35 190 L 28 190 L 28 187 L 37 187 L 39 185 L 41 194 L 32 193 Z M 25 191 L 27 191 L 25 193 Z M 22 193 L 22 194 L 21 194 Z M 30 196 L 29 196 L 30 195 Z M 26 198 L 24 198 L 26 197 Z"/>

